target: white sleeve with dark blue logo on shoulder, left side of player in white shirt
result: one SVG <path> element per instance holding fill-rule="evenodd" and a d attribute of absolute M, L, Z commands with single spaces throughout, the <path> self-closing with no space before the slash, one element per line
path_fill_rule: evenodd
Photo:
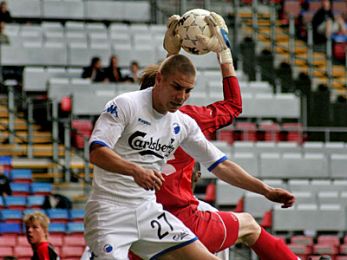
<path fill-rule="evenodd" d="M 100 114 L 90 137 L 89 144 L 99 144 L 113 148 L 128 123 L 129 100 L 116 97 L 109 101 Z"/>

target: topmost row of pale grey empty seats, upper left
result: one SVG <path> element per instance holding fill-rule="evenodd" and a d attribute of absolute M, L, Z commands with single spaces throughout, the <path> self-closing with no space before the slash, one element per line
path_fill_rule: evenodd
<path fill-rule="evenodd" d="M 8 0 L 15 18 L 149 22 L 148 1 Z"/>

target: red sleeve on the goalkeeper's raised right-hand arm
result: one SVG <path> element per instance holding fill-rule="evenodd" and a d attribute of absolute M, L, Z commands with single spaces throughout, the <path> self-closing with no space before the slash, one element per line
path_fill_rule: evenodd
<path fill-rule="evenodd" d="M 224 100 L 208 106 L 185 105 L 180 111 L 188 114 L 198 123 L 205 135 L 230 125 L 242 112 L 242 99 L 239 82 L 236 77 L 223 79 Z"/>

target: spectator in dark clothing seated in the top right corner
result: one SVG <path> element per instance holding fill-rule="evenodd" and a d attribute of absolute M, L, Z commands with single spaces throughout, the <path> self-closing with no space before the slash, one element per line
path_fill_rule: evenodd
<path fill-rule="evenodd" d="M 345 21 L 341 15 L 334 17 L 330 0 L 321 0 L 321 7 L 312 18 L 313 41 L 324 43 L 332 34 L 347 35 Z"/>

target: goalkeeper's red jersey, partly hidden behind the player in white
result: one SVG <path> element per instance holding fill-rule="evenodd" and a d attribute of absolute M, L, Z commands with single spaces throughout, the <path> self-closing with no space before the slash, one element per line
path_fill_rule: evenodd
<path fill-rule="evenodd" d="M 239 83 L 236 77 L 223 79 L 224 100 L 208 106 L 185 105 L 180 111 L 189 115 L 200 126 L 207 138 L 213 136 L 216 130 L 230 125 L 235 117 L 242 112 L 242 100 Z M 157 192 L 157 201 L 168 211 L 180 208 L 198 206 L 198 201 L 192 191 L 192 171 L 194 159 L 181 147 L 175 154 L 175 159 L 168 161 L 176 172 L 164 175 L 165 183 Z"/>

